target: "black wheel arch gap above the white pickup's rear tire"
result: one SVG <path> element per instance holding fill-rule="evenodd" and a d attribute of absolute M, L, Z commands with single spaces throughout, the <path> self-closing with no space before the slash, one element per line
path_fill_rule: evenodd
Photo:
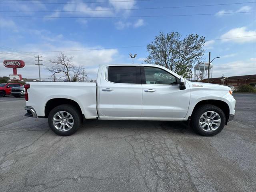
<path fill-rule="evenodd" d="M 46 102 L 46 105 L 44 108 L 44 118 L 48 118 L 50 111 L 56 106 L 59 106 L 62 104 L 68 104 L 68 105 L 74 106 L 79 111 L 81 116 L 83 116 L 82 110 L 76 101 L 71 99 L 66 99 L 66 98 L 53 98 Z"/>

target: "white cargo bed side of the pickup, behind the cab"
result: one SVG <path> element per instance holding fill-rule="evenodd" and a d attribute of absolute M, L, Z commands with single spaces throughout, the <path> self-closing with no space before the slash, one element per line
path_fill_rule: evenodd
<path fill-rule="evenodd" d="M 28 101 L 26 106 L 33 106 L 37 116 L 44 117 L 47 103 L 56 99 L 70 99 L 81 108 L 86 118 L 97 118 L 96 82 L 26 82 Z M 40 103 L 40 104 L 39 104 Z"/>

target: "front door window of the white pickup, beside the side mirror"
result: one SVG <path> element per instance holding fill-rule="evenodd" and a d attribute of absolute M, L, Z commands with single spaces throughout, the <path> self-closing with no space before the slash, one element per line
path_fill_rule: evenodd
<path fill-rule="evenodd" d="M 146 84 L 174 85 L 176 77 L 156 67 L 144 67 Z"/>

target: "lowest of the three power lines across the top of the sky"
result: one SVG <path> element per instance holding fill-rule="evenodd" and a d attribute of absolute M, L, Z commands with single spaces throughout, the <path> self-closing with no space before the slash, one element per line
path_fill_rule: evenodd
<path fill-rule="evenodd" d="M 17 18 L 150 18 L 150 17 L 174 17 L 174 16 L 202 16 L 202 15 L 224 15 L 224 14 L 241 14 L 241 13 L 255 13 L 256 11 L 250 12 L 231 12 L 231 13 L 206 13 L 206 14 L 180 14 L 180 15 L 150 15 L 150 16 L 105 16 L 105 17 L 52 17 L 52 16 L 8 16 L 0 15 L 0 17 L 17 17 Z"/>

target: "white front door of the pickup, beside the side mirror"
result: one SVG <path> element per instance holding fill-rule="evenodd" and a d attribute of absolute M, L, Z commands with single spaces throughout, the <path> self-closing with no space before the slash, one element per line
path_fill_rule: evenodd
<path fill-rule="evenodd" d="M 180 90 L 179 80 L 166 70 L 141 67 L 142 117 L 182 120 L 189 107 L 190 90 Z"/>

